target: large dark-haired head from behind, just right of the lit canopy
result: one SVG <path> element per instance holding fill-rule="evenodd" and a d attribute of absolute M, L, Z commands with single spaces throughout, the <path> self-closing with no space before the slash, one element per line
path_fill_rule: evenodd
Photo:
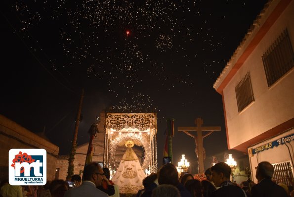
<path fill-rule="evenodd" d="M 158 172 L 158 183 L 177 186 L 179 184 L 178 172 L 173 164 L 168 163 L 162 166 Z"/>

